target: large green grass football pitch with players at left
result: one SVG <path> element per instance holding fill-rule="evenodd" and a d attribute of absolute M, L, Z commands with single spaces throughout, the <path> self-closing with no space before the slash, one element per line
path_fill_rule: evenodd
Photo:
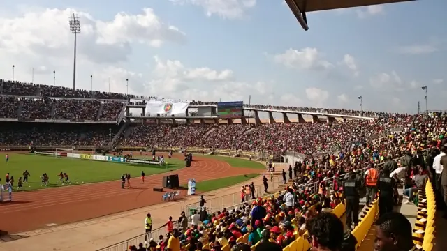
<path fill-rule="evenodd" d="M 70 176 L 72 185 L 81 183 L 95 183 L 101 181 L 117 181 L 122 174 L 131 174 L 132 177 L 139 177 L 144 171 L 146 175 L 161 174 L 170 172 L 174 169 L 184 167 L 182 160 L 170 160 L 168 165 L 159 167 L 156 165 L 135 165 L 120 164 L 114 162 L 105 162 L 98 160 L 80 160 L 72 158 L 54 158 L 52 156 L 33 155 L 33 154 L 10 154 L 8 163 L 2 162 L 0 168 L 2 175 L 9 172 L 10 176 L 15 179 L 15 184 L 24 170 L 28 170 L 29 183 L 24 184 L 24 190 L 35 190 L 43 188 L 41 179 L 43 173 L 47 173 L 50 177 L 50 184 L 46 188 L 59 187 L 57 184 L 59 172 L 65 172 Z M 2 181 L 3 182 L 3 181 Z"/>

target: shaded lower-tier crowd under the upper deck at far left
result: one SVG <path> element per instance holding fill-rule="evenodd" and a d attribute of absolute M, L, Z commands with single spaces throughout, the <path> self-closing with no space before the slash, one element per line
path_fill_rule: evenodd
<path fill-rule="evenodd" d="M 1 146 L 103 146 L 117 126 L 60 123 L 0 123 Z"/>

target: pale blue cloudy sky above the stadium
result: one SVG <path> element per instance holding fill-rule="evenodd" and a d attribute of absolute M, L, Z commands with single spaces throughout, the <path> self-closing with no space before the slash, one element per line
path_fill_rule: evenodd
<path fill-rule="evenodd" d="M 248 102 L 251 95 L 254 103 L 349 109 L 359 109 L 361 95 L 364 109 L 414 113 L 418 100 L 425 109 L 420 86 L 427 85 L 429 109 L 447 109 L 446 1 L 308 13 L 309 31 L 283 1 L 0 3 L 6 79 L 15 64 L 15 79 L 31 82 L 35 68 L 34 82 L 52 84 L 54 69 L 57 85 L 71 86 L 73 38 L 65 28 L 75 10 L 86 31 L 81 88 L 90 89 L 94 75 L 103 91 L 110 78 L 112 91 L 126 92 L 129 79 L 129 93 L 147 96 Z"/>

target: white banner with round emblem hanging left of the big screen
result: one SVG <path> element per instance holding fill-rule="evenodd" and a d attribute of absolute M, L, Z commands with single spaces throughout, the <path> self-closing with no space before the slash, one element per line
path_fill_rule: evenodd
<path fill-rule="evenodd" d="M 185 116 L 186 109 L 189 102 L 174 101 L 174 100 L 149 100 L 146 104 L 146 113 L 149 112 L 151 116 L 155 114 L 163 115 L 182 115 Z"/>

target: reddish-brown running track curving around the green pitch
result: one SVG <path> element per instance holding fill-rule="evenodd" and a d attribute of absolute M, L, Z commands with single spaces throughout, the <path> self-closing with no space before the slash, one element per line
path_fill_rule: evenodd
<path fill-rule="evenodd" d="M 89 220 L 112 213 L 162 203 L 160 187 L 163 176 L 178 174 L 180 184 L 189 178 L 206 181 L 253 173 L 253 169 L 230 167 L 227 162 L 194 156 L 192 166 L 174 172 L 147 176 L 145 183 L 132 178 L 131 188 L 122 189 L 121 181 L 107 181 L 61 188 L 47 188 L 13 193 L 13 201 L 0 204 L 0 229 L 8 234 Z M 186 191 L 182 190 L 185 196 Z"/>

